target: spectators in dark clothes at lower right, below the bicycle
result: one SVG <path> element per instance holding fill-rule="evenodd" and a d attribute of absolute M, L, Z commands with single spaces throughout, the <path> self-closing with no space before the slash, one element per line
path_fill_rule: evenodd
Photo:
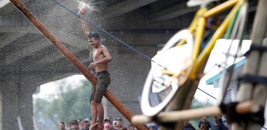
<path fill-rule="evenodd" d="M 212 124 L 208 121 L 208 117 L 202 117 L 199 121 L 198 129 L 195 129 L 189 123 L 189 120 L 185 120 L 182 130 L 231 130 L 231 127 L 231 124 L 227 121 L 227 116 L 222 119 L 222 116 L 214 115 Z"/>

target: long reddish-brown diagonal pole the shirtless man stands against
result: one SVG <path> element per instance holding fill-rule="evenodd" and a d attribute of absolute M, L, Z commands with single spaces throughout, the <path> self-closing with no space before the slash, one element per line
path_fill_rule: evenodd
<path fill-rule="evenodd" d="M 45 26 L 38 20 L 33 14 L 19 1 L 10 0 L 24 16 L 49 40 L 54 46 L 64 55 L 67 59 L 82 73 L 84 76 L 95 86 L 96 79 L 89 72 L 89 70 L 73 55 L 67 48 L 55 37 Z M 111 102 L 111 104 L 129 121 L 133 117 L 131 111 L 129 111 L 114 95 L 112 95 L 108 90 L 104 96 Z M 146 130 L 144 126 L 136 126 L 138 130 Z"/>

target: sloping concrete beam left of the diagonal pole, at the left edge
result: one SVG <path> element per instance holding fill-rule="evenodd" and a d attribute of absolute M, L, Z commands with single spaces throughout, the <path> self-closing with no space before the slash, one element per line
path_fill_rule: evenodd
<path fill-rule="evenodd" d="M 34 42 L 35 44 L 32 44 L 31 46 L 25 47 L 17 52 L 14 52 L 14 54 L 9 55 L 6 57 L 5 65 L 9 65 L 25 56 L 31 56 L 33 53 L 46 48 L 48 46 L 51 46 L 48 39 L 43 37 L 42 39 Z"/>

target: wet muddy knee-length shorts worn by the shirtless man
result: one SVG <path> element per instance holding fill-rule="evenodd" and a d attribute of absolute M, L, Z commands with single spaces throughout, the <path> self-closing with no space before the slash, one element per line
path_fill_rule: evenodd
<path fill-rule="evenodd" d="M 111 74 L 108 71 L 96 73 L 97 84 L 92 88 L 90 102 L 94 100 L 96 103 L 101 103 L 102 97 L 111 83 Z"/>

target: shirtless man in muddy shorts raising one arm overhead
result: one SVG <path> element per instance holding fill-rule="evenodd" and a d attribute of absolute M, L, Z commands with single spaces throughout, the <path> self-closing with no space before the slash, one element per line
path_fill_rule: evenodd
<path fill-rule="evenodd" d="M 86 13 L 85 6 L 83 6 L 79 15 L 84 17 Z M 108 73 L 108 63 L 111 62 L 112 57 L 107 49 L 103 46 L 99 40 L 99 35 L 95 32 L 91 32 L 83 19 L 80 19 L 82 23 L 82 28 L 85 35 L 88 37 L 89 44 L 93 48 L 92 59 L 93 63 L 89 65 L 89 69 L 96 70 L 97 84 L 92 88 L 90 95 L 90 106 L 91 106 L 91 127 L 90 130 L 103 130 L 103 119 L 104 119 L 104 109 L 101 104 L 101 99 L 103 94 L 107 90 L 111 77 Z M 97 120 L 96 120 L 97 119 Z M 97 128 L 96 128 L 97 127 Z"/>

